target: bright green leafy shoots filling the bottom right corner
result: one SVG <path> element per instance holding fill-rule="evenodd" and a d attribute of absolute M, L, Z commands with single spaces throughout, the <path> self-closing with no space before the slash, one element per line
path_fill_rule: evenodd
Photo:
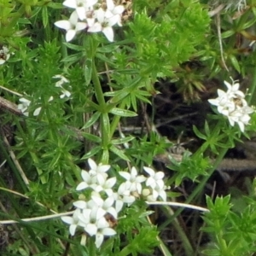
<path fill-rule="evenodd" d="M 252 203 L 253 202 L 253 203 Z M 203 250 L 204 255 L 252 255 L 255 253 L 255 201 L 250 201 L 241 212 L 232 212 L 230 196 L 217 197 L 215 202 L 207 197 L 210 212 L 203 217 L 203 228 L 214 237 L 214 242 Z"/>

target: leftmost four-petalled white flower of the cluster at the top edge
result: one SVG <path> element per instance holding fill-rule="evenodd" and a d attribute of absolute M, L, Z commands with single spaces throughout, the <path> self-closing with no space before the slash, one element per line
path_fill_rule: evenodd
<path fill-rule="evenodd" d="M 55 22 L 55 26 L 66 30 L 66 41 L 71 41 L 75 35 L 86 28 L 85 22 L 79 21 L 79 16 L 76 11 L 73 11 L 69 20 L 59 20 Z"/>

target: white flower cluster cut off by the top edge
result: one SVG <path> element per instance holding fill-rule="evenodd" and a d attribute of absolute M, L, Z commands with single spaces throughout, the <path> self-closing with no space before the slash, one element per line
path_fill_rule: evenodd
<path fill-rule="evenodd" d="M 66 30 L 66 41 L 71 41 L 75 35 L 86 29 L 87 32 L 103 32 L 108 41 L 113 42 L 112 26 L 121 24 L 121 15 L 125 8 L 115 5 L 113 0 L 66 0 L 63 5 L 74 9 L 69 20 L 55 22 Z"/>

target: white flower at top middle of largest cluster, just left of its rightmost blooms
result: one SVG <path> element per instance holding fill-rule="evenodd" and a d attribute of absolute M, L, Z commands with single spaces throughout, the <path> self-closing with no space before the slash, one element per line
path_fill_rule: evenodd
<path fill-rule="evenodd" d="M 125 177 L 125 179 L 131 182 L 131 191 L 137 191 L 138 194 L 142 194 L 142 184 L 146 177 L 143 175 L 137 175 L 137 170 L 135 167 L 131 168 L 131 173 L 129 172 L 119 172 L 119 175 Z"/>

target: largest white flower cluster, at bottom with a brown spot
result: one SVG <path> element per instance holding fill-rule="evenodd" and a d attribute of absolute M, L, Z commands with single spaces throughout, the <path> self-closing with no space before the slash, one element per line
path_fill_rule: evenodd
<path fill-rule="evenodd" d="M 116 186 L 117 178 L 108 177 L 109 165 L 96 165 L 94 160 L 88 160 L 90 171 L 82 170 L 83 181 L 76 190 L 90 191 L 90 198 L 84 200 L 84 195 L 79 196 L 79 201 L 73 202 L 76 208 L 72 217 L 61 217 L 62 221 L 69 224 L 69 233 L 73 236 L 77 228 L 84 230 L 88 236 L 96 237 L 96 247 L 101 247 L 104 236 L 113 236 L 113 229 L 117 224 L 119 212 L 122 208 L 141 197 L 147 201 L 157 201 L 160 197 L 166 201 L 166 186 L 163 181 L 163 172 L 154 172 L 149 167 L 144 167 L 148 177 L 138 175 L 135 167 L 131 172 L 119 172 L 125 179 Z M 88 194 L 86 194 L 88 197 Z"/>

